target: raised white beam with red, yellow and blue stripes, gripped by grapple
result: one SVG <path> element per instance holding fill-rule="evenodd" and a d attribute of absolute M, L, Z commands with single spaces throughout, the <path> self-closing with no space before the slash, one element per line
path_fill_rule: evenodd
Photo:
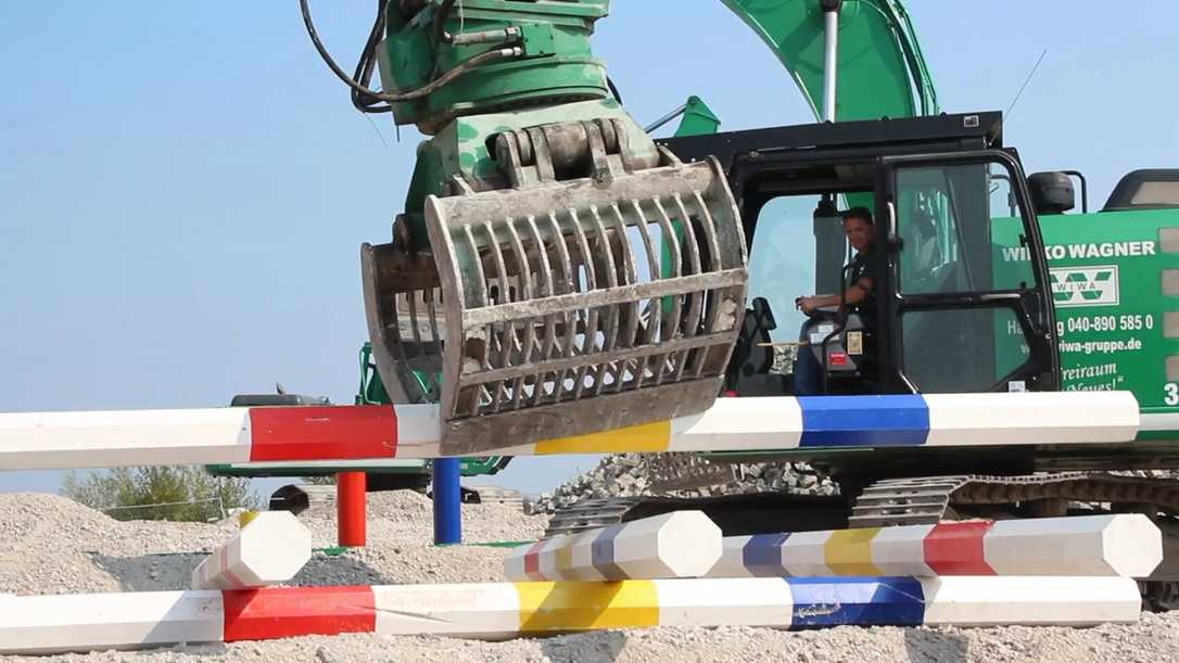
<path fill-rule="evenodd" d="M 706 412 L 486 451 L 505 456 L 1131 442 L 1129 392 L 720 398 Z M 0 470 L 437 458 L 434 405 L 0 415 Z M 519 443 L 518 443 L 519 444 Z"/>

